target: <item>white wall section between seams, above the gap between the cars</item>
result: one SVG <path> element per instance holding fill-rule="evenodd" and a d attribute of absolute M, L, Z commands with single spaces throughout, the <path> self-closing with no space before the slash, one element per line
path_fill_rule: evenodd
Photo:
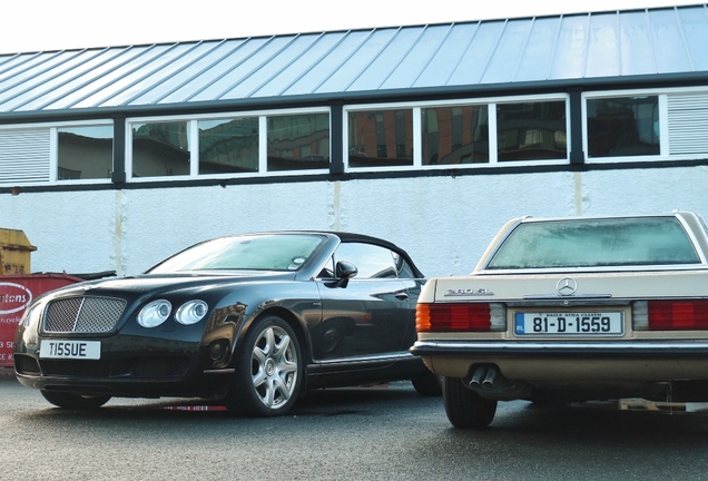
<path fill-rule="evenodd" d="M 574 215 L 567 173 L 357 180 L 342 193 L 344 230 L 395 242 L 425 275 L 469 274 L 512 217 Z"/>

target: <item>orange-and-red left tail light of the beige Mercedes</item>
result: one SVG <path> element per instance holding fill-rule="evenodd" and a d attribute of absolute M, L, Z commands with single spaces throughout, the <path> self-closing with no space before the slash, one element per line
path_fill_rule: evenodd
<path fill-rule="evenodd" d="M 415 328 L 417 332 L 504 331 L 507 314 L 500 303 L 419 304 Z"/>

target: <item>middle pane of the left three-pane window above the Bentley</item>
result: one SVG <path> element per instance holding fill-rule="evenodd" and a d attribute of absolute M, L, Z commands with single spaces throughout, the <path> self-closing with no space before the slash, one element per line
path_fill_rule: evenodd
<path fill-rule="evenodd" d="M 199 120 L 199 174 L 258 171 L 258 118 Z"/>

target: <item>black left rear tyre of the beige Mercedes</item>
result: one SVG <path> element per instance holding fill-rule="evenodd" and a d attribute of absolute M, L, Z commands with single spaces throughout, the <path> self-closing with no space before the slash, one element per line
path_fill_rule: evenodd
<path fill-rule="evenodd" d="M 455 428 L 486 428 L 496 413 L 496 401 L 480 396 L 458 377 L 443 377 L 443 402 L 448 419 Z"/>

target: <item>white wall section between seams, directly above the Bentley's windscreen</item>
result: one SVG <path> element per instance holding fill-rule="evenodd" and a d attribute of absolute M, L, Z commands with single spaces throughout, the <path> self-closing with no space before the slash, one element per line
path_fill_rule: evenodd
<path fill-rule="evenodd" d="M 276 229 L 332 229 L 327 184 L 122 192 L 124 272 L 138 274 L 199 240 Z"/>

